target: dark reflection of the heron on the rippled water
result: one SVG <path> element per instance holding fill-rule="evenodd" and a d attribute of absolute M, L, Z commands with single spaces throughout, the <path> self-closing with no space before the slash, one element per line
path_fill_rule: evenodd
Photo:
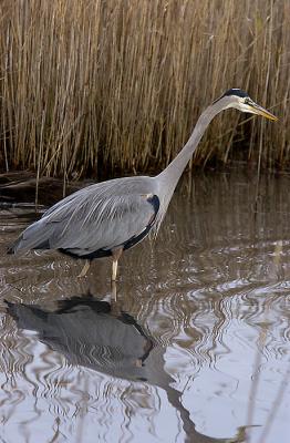
<path fill-rule="evenodd" d="M 100 301 L 90 295 L 58 301 L 54 311 L 35 305 L 7 301 L 7 311 L 18 328 L 38 332 L 39 340 L 82 365 L 113 377 L 144 381 L 164 389 L 169 403 L 179 412 L 188 442 L 227 442 L 198 433 L 182 394 L 172 388 L 174 379 L 165 371 L 165 348 L 158 346 L 117 302 Z M 237 439 L 240 442 L 245 429 Z"/>

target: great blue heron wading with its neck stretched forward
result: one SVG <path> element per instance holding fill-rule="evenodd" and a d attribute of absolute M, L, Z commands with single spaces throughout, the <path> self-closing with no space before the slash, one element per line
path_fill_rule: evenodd
<path fill-rule="evenodd" d="M 30 225 L 8 253 L 56 249 L 86 260 L 80 277 L 86 275 L 94 258 L 112 256 L 112 280 L 116 280 L 122 253 L 151 230 L 158 231 L 177 182 L 207 126 L 229 107 L 277 120 L 246 92 L 231 89 L 203 112 L 182 152 L 160 174 L 111 179 L 69 195 Z"/>

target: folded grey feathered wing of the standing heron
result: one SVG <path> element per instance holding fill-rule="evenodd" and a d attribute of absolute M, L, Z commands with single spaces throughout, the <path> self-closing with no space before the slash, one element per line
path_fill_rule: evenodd
<path fill-rule="evenodd" d="M 156 216 L 149 177 L 142 178 L 104 182 L 72 194 L 29 226 L 12 251 L 65 249 L 81 257 L 123 245 Z"/>

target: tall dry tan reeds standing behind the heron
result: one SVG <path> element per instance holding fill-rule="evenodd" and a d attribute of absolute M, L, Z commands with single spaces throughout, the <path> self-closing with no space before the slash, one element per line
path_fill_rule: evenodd
<path fill-rule="evenodd" d="M 288 0 L 2 0 L 1 169 L 157 172 L 229 87 L 280 121 L 227 111 L 194 164 L 288 167 L 289 22 Z"/>

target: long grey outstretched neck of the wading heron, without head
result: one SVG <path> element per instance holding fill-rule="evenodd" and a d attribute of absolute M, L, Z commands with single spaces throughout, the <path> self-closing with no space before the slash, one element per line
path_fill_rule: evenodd
<path fill-rule="evenodd" d="M 200 142 L 207 126 L 211 120 L 217 115 L 224 106 L 220 102 L 214 103 L 208 106 L 206 111 L 203 112 L 197 121 L 193 134 L 190 135 L 188 142 L 185 144 L 179 154 L 174 158 L 174 161 L 157 176 L 163 184 L 166 183 L 174 192 L 187 163 L 191 158 L 194 152 L 196 151 L 198 143 Z"/>

